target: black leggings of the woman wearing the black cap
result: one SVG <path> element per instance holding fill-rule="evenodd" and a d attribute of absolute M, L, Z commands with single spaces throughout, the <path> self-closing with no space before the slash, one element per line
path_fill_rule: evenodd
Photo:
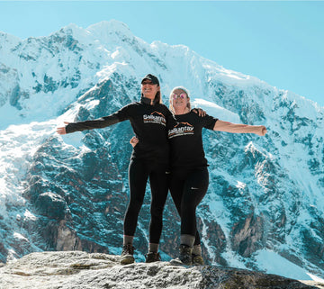
<path fill-rule="evenodd" d="M 130 203 L 124 218 L 124 235 L 134 236 L 139 210 L 144 200 L 145 189 L 149 177 L 151 188 L 151 219 L 149 222 L 149 242 L 159 243 L 162 232 L 162 213 L 166 203 L 169 175 L 166 165 L 154 161 L 130 160 L 129 184 Z"/>

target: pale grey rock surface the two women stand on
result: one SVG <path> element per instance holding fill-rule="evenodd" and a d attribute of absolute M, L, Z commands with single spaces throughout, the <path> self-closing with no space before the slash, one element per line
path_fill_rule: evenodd
<path fill-rule="evenodd" d="M 119 264 L 119 257 L 82 251 L 31 253 L 0 267 L 1 289 L 28 288 L 323 288 L 324 284 L 218 266 L 168 262 Z"/>

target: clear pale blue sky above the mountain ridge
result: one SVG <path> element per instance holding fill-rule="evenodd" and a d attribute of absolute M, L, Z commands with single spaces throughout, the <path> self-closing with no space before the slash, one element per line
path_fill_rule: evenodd
<path fill-rule="evenodd" d="M 116 19 L 324 106 L 323 15 L 320 1 L 0 1 L 0 31 L 25 39 Z"/>

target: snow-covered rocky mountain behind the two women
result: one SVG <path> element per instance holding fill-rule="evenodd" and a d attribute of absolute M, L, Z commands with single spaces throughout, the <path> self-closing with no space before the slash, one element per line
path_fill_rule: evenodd
<path fill-rule="evenodd" d="M 172 87 L 185 86 L 207 113 L 268 129 L 265 138 L 203 132 L 211 180 L 197 212 L 204 258 L 324 277 L 324 108 L 183 45 L 148 44 L 116 21 L 27 40 L 0 32 L 0 259 L 121 252 L 130 124 L 63 138 L 55 130 L 139 100 L 148 73 L 159 77 L 165 104 Z M 139 260 L 148 247 L 149 200 L 148 193 L 136 232 Z M 164 259 L 176 255 L 179 230 L 168 199 Z"/>

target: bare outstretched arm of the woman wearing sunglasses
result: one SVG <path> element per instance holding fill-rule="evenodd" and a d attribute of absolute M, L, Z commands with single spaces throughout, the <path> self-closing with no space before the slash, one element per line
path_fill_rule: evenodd
<path fill-rule="evenodd" d="M 222 122 L 218 120 L 213 131 L 226 131 L 231 133 L 255 133 L 259 136 L 266 135 L 266 127 L 264 125 L 248 125 L 232 122 Z"/>

